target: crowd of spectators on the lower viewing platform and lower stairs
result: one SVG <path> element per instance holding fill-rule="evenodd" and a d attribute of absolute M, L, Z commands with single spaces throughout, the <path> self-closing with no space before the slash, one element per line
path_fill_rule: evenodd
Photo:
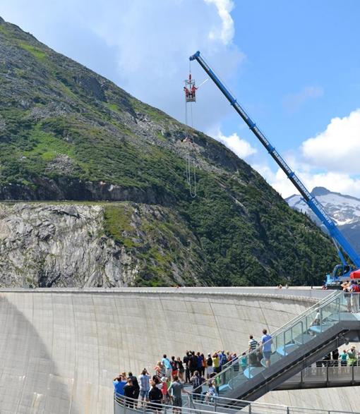
<path fill-rule="evenodd" d="M 181 394 L 188 392 L 184 387 L 192 386 L 191 394 L 194 399 L 200 399 L 203 393 L 203 384 L 206 382 L 208 389 L 205 393 L 205 401 L 219 394 L 220 379 L 216 377 L 225 365 L 231 365 L 233 370 L 246 369 L 248 364 L 256 365 L 260 359 L 264 358 L 267 366 L 270 366 L 272 338 L 266 329 L 263 329 L 263 336 L 260 341 L 256 341 L 250 335 L 248 342 L 248 353 L 244 352 L 240 357 L 227 351 L 217 351 L 214 353 L 200 353 L 186 351 L 183 358 L 172 356 L 168 358 L 166 354 L 157 362 L 153 368 L 152 375 L 146 368 L 138 377 L 132 372 L 122 372 L 114 378 L 114 391 L 119 396 L 125 396 L 126 406 L 133 408 L 144 402 L 150 403 L 150 408 L 160 410 L 161 404 L 170 404 L 174 410 L 181 408 Z M 259 348 L 260 346 L 260 348 Z M 255 349 L 259 350 L 254 353 Z M 256 360 L 251 359 L 256 355 Z"/>

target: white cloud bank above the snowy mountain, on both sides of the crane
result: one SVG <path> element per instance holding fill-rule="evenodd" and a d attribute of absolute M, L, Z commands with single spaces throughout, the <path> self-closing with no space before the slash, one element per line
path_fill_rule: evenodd
<path fill-rule="evenodd" d="M 332 118 L 322 133 L 304 141 L 297 152 L 284 155 L 308 190 L 330 191 L 360 197 L 360 109 L 344 118 Z M 270 159 L 252 164 L 282 197 L 297 194 L 284 172 Z"/>

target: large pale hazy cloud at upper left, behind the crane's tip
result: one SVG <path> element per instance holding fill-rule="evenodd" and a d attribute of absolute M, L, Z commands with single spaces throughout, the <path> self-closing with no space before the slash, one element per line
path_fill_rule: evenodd
<path fill-rule="evenodd" d="M 188 56 L 200 50 L 225 81 L 244 59 L 232 42 L 233 6 L 232 0 L 2 0 L 1 15 L 184 121 Z M 191 71 L 198 83 L 206 78 L 197 62 Z M 212 83 L 200 88 L 193 109 L 200 130 L 232 111 Z"/>

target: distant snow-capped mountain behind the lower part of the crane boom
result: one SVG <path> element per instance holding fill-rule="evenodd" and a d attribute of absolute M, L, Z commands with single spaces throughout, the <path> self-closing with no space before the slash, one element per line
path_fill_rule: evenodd
<path fill-rule="evenodd" d="M 351 195 L 332 193 L 323 187 L 314 188 L 311 194 L 316 196 L 337 227 L 360 254 L 360 199 Z M 292 195 L 286 201 L 293 209 L 308 214 L 320 226 L 319 219 L 313 214 L 301 195 Z M 320 227 L 325 231 L 324 226 Z"/>

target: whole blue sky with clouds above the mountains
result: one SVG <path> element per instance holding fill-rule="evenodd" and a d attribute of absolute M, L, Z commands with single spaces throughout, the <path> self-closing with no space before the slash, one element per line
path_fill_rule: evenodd
<path fill-rule="evenodd" d="M 1 0 L 0 16 L 181 122 L 200 50 L 309 190 L 360 197 L 360 1 Z M 193 126 L 296 193 L 211 80 Z"/>

